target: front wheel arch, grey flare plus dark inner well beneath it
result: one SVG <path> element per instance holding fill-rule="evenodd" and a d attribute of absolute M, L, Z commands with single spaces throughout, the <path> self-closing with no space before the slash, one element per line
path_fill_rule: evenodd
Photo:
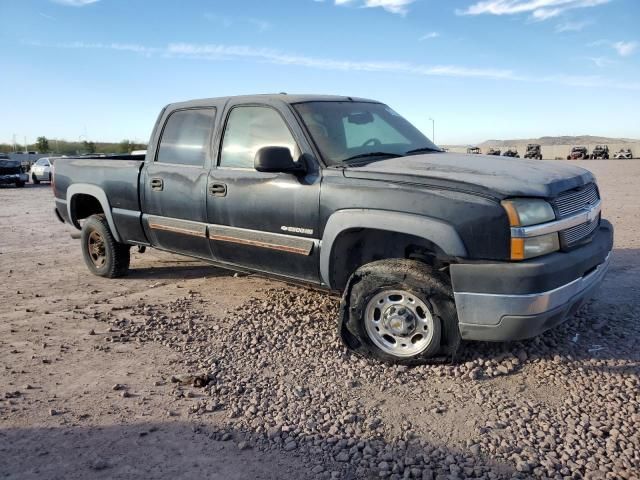
<path fill-rule="evenodd" d="M 387 241 L 395 244 L 385 245 Z M 455 228 L 442 220 L 388 210 L 339 210 L 329 217 L 322 236 L 322 281 L 331 289 L 342 290 L 362 264 L 381 258 L 404 258 L 410 246 L 423 248 L 438 259 L 466 257 L 466 248 Z M 345 255 L 354 247 L 359 249 L 358 256 Z"/>

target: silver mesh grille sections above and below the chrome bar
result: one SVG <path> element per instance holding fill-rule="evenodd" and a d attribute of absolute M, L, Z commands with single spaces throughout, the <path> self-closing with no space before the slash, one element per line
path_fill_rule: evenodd
<path fill-rule="evenodd" d="M 555 207 L 558 218 L 566 218 L 583 211 L 589 205 L 600 200 L 598 187 L 590 183 L 584 187 L 561 193 L 551 203 Z M 589 237 L 600 225 L 600 216 L 592 222 L 585 222 L 560 232 L 560 244 L 563 248 L 572 247 Z"/>

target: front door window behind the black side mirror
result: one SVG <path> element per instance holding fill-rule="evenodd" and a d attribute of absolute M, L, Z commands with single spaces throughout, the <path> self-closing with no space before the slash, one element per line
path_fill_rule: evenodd
<path fill-rule="evenodd" d="M 274 109 L 235 107 L 231 110 L 222 140 L 220 165 L 253 168 L 256 152 L 262 147 L 287 147 L 296 158 L 296 142 Z"/>

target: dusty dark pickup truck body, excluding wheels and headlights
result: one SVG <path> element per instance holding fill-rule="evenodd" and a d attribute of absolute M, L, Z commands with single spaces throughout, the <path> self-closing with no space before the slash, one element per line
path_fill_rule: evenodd
<path fill-rule="evenodd" d="M 315 123 L 331 110 L 309 114 L 326 102 L 364 112 L 345 117 L 353 131 L 397 115 L 371 100 L 328 96 L 172 104 L 158 117 L 146 156 L 58 159 L 56 210 L 78 228 L 104 214 L 121 243 L 337 291 L 367 262 L 431 262 L 449 275 L 467 339 L 537 335 L 602 280 L 613 229 L 600 219 L 587 170 L 445 153 L 426 137 L 426 149 L 389 154 L 376 151 L 380 139 L 362 137 L 350 147 L 357 160 L 335 161 L 327 152 L 336 151 L 338 134 Z M 285 146 L 300 169 L 258 171 L 256 145 Z M 554 217 L 514 227 L 502 204 L 514 198 L 544 201 Z M 542 234 L 557 235 L 554 253 L 513 260 L 514 239 Z"/>

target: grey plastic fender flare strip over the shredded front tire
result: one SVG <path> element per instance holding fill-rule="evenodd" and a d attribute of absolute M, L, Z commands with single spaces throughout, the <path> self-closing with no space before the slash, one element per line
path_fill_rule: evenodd
<path fill-rule="evenodd" d="M 467 256 L 467 249 L 458 232 L 451 224 L 442 220 L 392 210 L 338 210 L 327 220 L 320 249 L 320 276 L 330 288 L 334 288 L 330 273 L 333 244 L 341 233 L 354 228 L 371 228 L 414 235 L 436 244 L 449 256 Z"/>

